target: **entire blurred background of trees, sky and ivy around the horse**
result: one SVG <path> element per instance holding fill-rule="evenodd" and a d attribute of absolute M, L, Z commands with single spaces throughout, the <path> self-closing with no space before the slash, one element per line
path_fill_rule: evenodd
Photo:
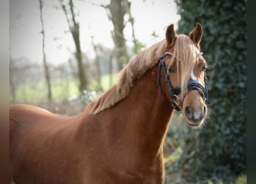
<path fill-rule="evenodd" d="M 76 116 L 168 25 L 199 22 L 209 64 L 204 128 L 175 113 L 165 183 L 246 183 L 246 0 L 10 0 L 9 104 Z"/>

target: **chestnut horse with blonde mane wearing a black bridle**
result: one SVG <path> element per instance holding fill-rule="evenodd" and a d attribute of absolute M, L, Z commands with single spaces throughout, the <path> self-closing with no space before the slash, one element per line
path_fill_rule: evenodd
<path fill-rule="evenodd" d="M 201 127 L 208 110 L 202 27 L 138 53 L 119 81 L 76 117 L 10 105 L 14 183 L 163 183 L 163 143 L 174 110 Z"/>

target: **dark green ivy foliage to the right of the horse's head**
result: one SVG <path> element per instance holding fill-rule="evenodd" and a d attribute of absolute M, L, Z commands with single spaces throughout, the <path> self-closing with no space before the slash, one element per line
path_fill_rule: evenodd
<path fill-rule="evenodd" d="M 230 183 L 246 173 L 246 1 L 175 2 L 178 34 L 189 34 L 197 22 L 204 30 L 212 114 L 205 128 L 185 135 L 177 171 L 188 182 L 217 177 Z"/>

